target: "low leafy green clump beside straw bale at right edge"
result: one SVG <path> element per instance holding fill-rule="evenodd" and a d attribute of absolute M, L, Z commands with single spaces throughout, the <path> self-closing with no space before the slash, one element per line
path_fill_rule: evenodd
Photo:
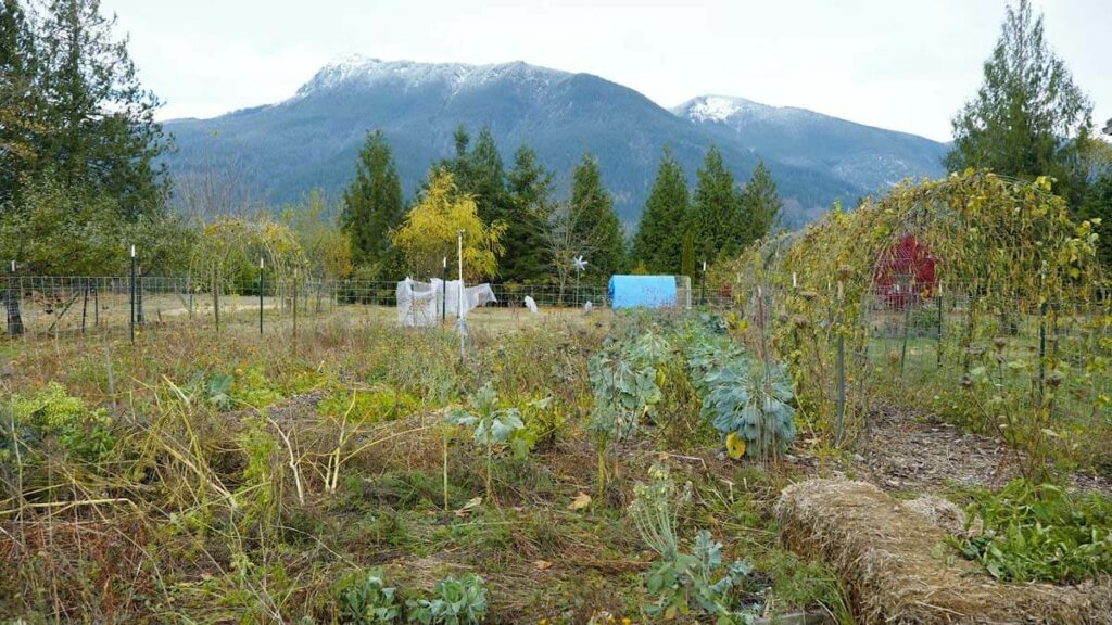
<path fill-rule="evenodd" d="M 969 518 L 983 529 L 959 548 L 997 579 L 1073 584 L 1112 574 L 1112 503 L 1099 495 L 1015 480 L 977 496 Z"/>

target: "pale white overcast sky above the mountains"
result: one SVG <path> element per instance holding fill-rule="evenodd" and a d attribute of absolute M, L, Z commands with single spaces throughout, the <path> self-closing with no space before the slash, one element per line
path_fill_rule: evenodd
<path fill-rule="evenodd" d="M 1112 0 L 1036 0 L 1074 79 L 1112 117 Z M 350 53 L 524 60 L 672 107 L 705 93 L 950 138 L 1000 31 L 997 0 L 102 0 L 160 117 L 280 101 Z M 1101 123 L 1103 126 L 1103 123 Z"/>

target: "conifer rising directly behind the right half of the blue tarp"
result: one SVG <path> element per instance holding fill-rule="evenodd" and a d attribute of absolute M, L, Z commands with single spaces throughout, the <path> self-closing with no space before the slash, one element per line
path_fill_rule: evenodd
<path fill-rule="evenodd" d="M 672 150 L 664 149 L 653 191 L 633 244 L 634 262 L 653 274 L 679 274 L 684 234 L 688 227 L 687 180 Z"/>

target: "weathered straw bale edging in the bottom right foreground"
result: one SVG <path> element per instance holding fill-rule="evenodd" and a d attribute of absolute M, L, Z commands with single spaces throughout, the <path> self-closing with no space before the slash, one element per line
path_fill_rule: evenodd
<path fill-rule="evenodd" d="M 782 539 L 842 576 L 861 623 L 1112 623 L 1112 583 L 1005 585 L 946 544 L 946 533 L 877 487 L 814 479 L 784 489 Z"/>

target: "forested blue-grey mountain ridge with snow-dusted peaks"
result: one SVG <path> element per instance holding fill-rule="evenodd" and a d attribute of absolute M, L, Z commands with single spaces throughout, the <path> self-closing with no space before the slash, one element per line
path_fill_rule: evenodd
<path fill-rule="evenodd" d="M 694 115 L 703 110 L 698 102 L 722 110 Z M 181 183 L 205 168 L 236 168 L 237 178 L 270 202 L 297 200 L 314 187 L 335 196 L 354 173 L 366 131 L 381 128 L 409 191 L 429 165 L 451 155 L 451 135 L 460 123 L 473 132 L 490 128 L 507 162 L 519 143 L 530 145 L 563 186 L 579 156 L 592 152 L 627 226 L 639 217 L 665 145 L 689 180 L 711 145 L 739 181 L 764 158 L 793 226 L 833 200 L 853 201 L 892 183 L 896 173 L 939 175 L 943 147 L 736 97 L 699 96 L 667 110 L 605 78 L 524 61 L 423 63 L 349 56 L 320 68 L 282 101 L 165 121 L 178 147 L 166 162 Z"/>

